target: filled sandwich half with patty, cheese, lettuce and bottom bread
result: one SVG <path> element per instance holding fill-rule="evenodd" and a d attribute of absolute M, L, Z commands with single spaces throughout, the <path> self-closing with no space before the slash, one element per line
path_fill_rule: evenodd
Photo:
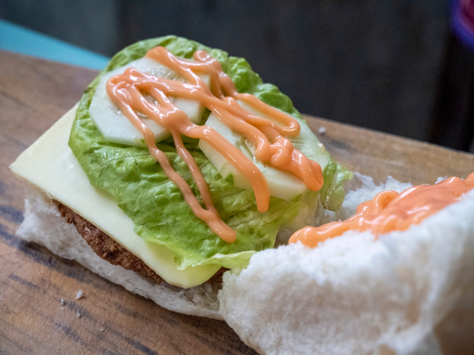
<path fill-rule="evenodd" d="M 337 210 L 352 178 L 244 59 L 175 36 L 117 53 L 11 170 L 23 239 L 218 319 L 222 273 Z"/>

